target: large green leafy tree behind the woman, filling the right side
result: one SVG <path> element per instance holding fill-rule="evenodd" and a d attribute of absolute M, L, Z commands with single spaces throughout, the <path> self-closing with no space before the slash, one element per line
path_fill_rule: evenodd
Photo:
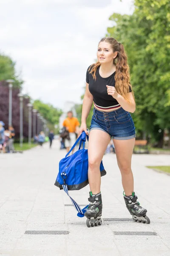
<path fill-rule="evenodd" d="M 133 15 L 113 14 L 107 36 L 124 44 L 136 96 L 137 135 L 162 139 L 170 129 L 170 2 L 135 0 Z"/>

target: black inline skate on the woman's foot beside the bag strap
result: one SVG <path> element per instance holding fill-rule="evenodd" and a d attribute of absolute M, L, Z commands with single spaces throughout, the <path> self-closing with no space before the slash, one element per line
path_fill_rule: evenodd
<path fill-rule="evenodd" d="M 85 212 L 85 217 L 87 217 L 86 225 L 88 227 L 94 227 L 102 224 L 102 195 L 101 193 L 93 195 L 91 192 L 89 194 L 88 201 L 90 204 Z"/>

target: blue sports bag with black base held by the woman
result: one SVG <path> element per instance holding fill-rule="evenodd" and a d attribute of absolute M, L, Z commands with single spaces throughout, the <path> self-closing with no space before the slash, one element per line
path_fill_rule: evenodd
<path fill-rule="evenodd" d="M 83 131 L 68 154 L 59 161 L 59 173 L 54 185 L 60 189 L 63 189 L 62 185 L 67 185 L 68 190 L 79 190 L 88 185 L 88 150 L 85 149 L 86 137 L 88 139 L 88 135 Z M 68 157 L 79 141 L 79 149 Z M 82 144 L 83 147 L 81 149 Z M 106 175 L 102 162 L 100 163 L 100 172 L 101 176 Z"/>

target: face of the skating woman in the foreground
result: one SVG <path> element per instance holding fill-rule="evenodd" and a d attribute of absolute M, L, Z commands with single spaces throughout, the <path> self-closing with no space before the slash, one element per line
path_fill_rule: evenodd
<path fill-rule="evenodd" d="M 113 59 L 116 58 L 117 52 L 113 53 L 111 44 L 100 42 L 97 49 L 97 59 L 101 64 L 113 63 Z"/>

